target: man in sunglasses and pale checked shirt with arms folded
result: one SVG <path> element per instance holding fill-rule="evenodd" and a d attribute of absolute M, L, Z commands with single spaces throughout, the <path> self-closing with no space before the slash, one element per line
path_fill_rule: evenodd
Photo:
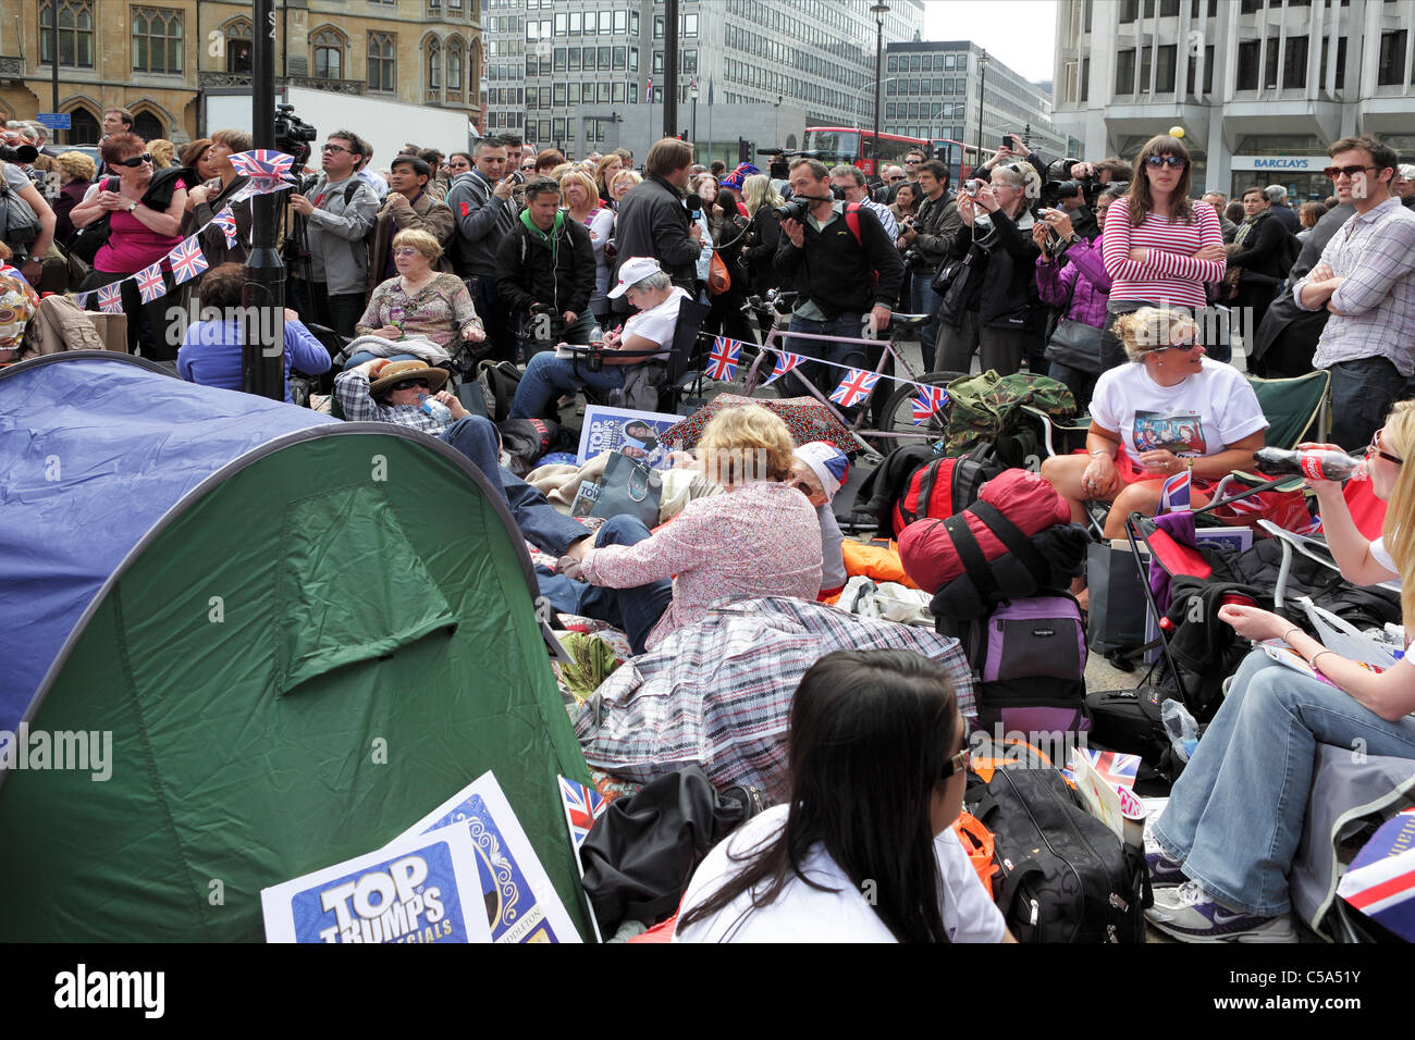
<path fill-rule="evenodd" d="M 1356 214 L 1292 294 L 1303 310 L 1332 314 L 1312 364 L 1332 374 L 1332 440 L 1353 450 L 1415 391 L 1415 214 L 1390 190 L 1394 149 L 1364 134 L 1327 154 L 1337 200 Z"/>

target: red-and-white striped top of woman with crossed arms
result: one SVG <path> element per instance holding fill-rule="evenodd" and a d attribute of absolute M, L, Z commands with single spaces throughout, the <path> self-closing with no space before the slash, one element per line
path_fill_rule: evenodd
<path fill-rule="evenodd" d="M 1223 282 L 1227 260 L 1193 259 L 1203 246 L 1221 246 L 1218 214 L 1206 202 L 1193 202 L 1190 224 L 1150 212 L 1140 226 L 1131 225 L 1129 200 L 1118 198 L 1105 214 L 1101 256 L 1112 279 L 1111 300 L 1149 300 L 1200 310 L 1204 283 Z M 1131 259 L 1132 249 L 1148 249 L 1143 263 Z"/>

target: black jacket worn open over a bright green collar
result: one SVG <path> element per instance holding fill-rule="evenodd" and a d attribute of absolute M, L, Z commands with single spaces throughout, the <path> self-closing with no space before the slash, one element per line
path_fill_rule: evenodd
<path fill-rule="evenodd" d="M 586 314 L 594 293 L 594 249 L 583 224 L 565 215 L 556 238 L 555 263 L 550 249 L 516 219 L 497 250 L 499 275 L 497 293 L 507 313 L 526 311 L 532 303 L 548 304 L 556 316 Z"/>

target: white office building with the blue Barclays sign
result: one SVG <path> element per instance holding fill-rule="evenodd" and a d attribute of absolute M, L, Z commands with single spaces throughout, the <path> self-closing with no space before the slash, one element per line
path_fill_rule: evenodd
<path fill-rule="evenodd" d="M 1415 156 L 1415 4 L 1061 0 L 1058 126 L 1088 158 L 1184 127 L 1194 194 L 1332 194 L 1326 149 L 1371 133 Z"/>

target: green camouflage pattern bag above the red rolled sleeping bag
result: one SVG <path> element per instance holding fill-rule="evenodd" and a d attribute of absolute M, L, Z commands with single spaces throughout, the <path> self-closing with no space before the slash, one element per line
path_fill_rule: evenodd
<path fill-rule="evenodd" d="M 968 454 L 975 444 L 996 446 L 1003 466 L 1029 470 L 1041 467 L 1046 457 L 1044 430 L 1023 405 L 1046 412 L 1053 422 L 1075 417 L 1075 398 L 1064 383 L 1044 375 L 999 376 L 989 369 L 948 383 L 948 426 L 942 454 Z"/>

